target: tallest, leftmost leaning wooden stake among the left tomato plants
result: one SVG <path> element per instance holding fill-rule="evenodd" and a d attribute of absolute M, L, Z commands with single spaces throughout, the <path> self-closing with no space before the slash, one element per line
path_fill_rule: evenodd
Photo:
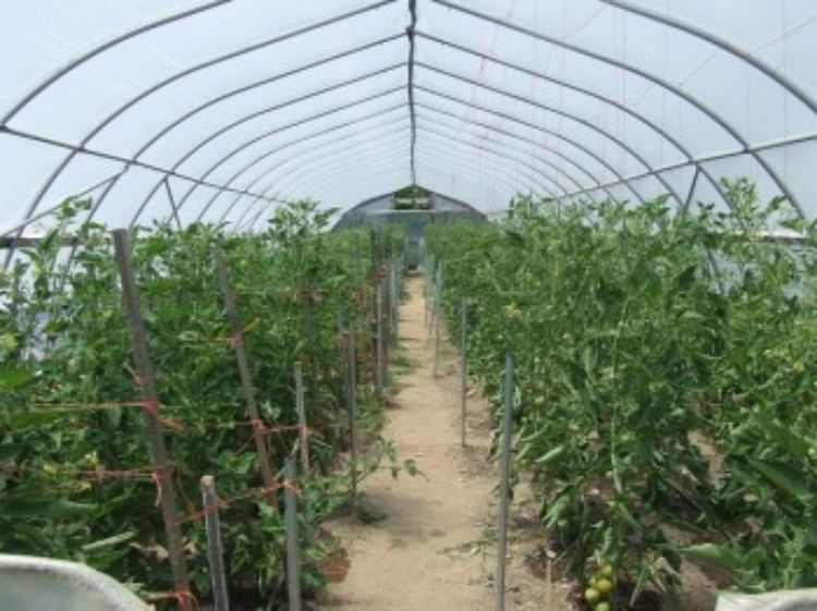
<path fill-rule="evenodd" d="M 136 278 L 133 271 L 133 255 L 127 230 L 118 229 L 113 231 L 113 244 L 115 247 L 117 266 L 122 279 L 122 298 L 127 314 L 127 326 L 131 330 L 131 344 L 133 346 L 133 359 L 138 374 L 142 399 L 146 405 L 154 408 L 145 410 L 150 449 L 154 455 L 154 468 L 156 469 L 156 482 L 161 492 L 161 516 L 164 522 L 164 534 L 168 538 L 168 553 L 170 554 L 170 567 L 173 572 L 173 586 L 181 594 L 190 592 L 190 579 L 187 577 L 187 565 L 184 561 L 182 549 L 182 530 L 176 517 L 175 488 L 173 488 L 170 475 L 170 460 L 168 448 L 164 442 L 164 432 L 159 419 L 159 394 L 156 390 L 156 378 L 150 355 L 147 350 L 147 332 L 142 319 L 139 305 L 139 293 L 136 288 Z M 187 598 L 180 598 L 182 606 L 187 608 Z"/>

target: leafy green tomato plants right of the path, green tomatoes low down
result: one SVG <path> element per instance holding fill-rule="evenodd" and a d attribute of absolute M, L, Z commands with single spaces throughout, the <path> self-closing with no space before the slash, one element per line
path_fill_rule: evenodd
<path fill-rule="evenodd" d="M 768 240 L 782 204 L 724 188 L 722 212 L 522 199 L 428 232 L 497 417 L 515 358 L 515 465 L 578 608 L 642 608 L 684 563 L 745 590 L 817 584 L 814 244 Z"/>

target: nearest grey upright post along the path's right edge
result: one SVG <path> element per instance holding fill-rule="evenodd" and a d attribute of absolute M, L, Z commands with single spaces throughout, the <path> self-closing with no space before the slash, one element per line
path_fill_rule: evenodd
<path fill-rule="evenodd" d="M 497 525 L 497 575 L 493 586 L 497 594 L 496 611 L 505 608 L 505 555 L 508 554 L 508 505 L 511 479 L 511 436 L 513 435 L 513 357 L 505 355 L 505 375 L 502 401 L 502 440 L 500 450 L 499 523 Z"/>

